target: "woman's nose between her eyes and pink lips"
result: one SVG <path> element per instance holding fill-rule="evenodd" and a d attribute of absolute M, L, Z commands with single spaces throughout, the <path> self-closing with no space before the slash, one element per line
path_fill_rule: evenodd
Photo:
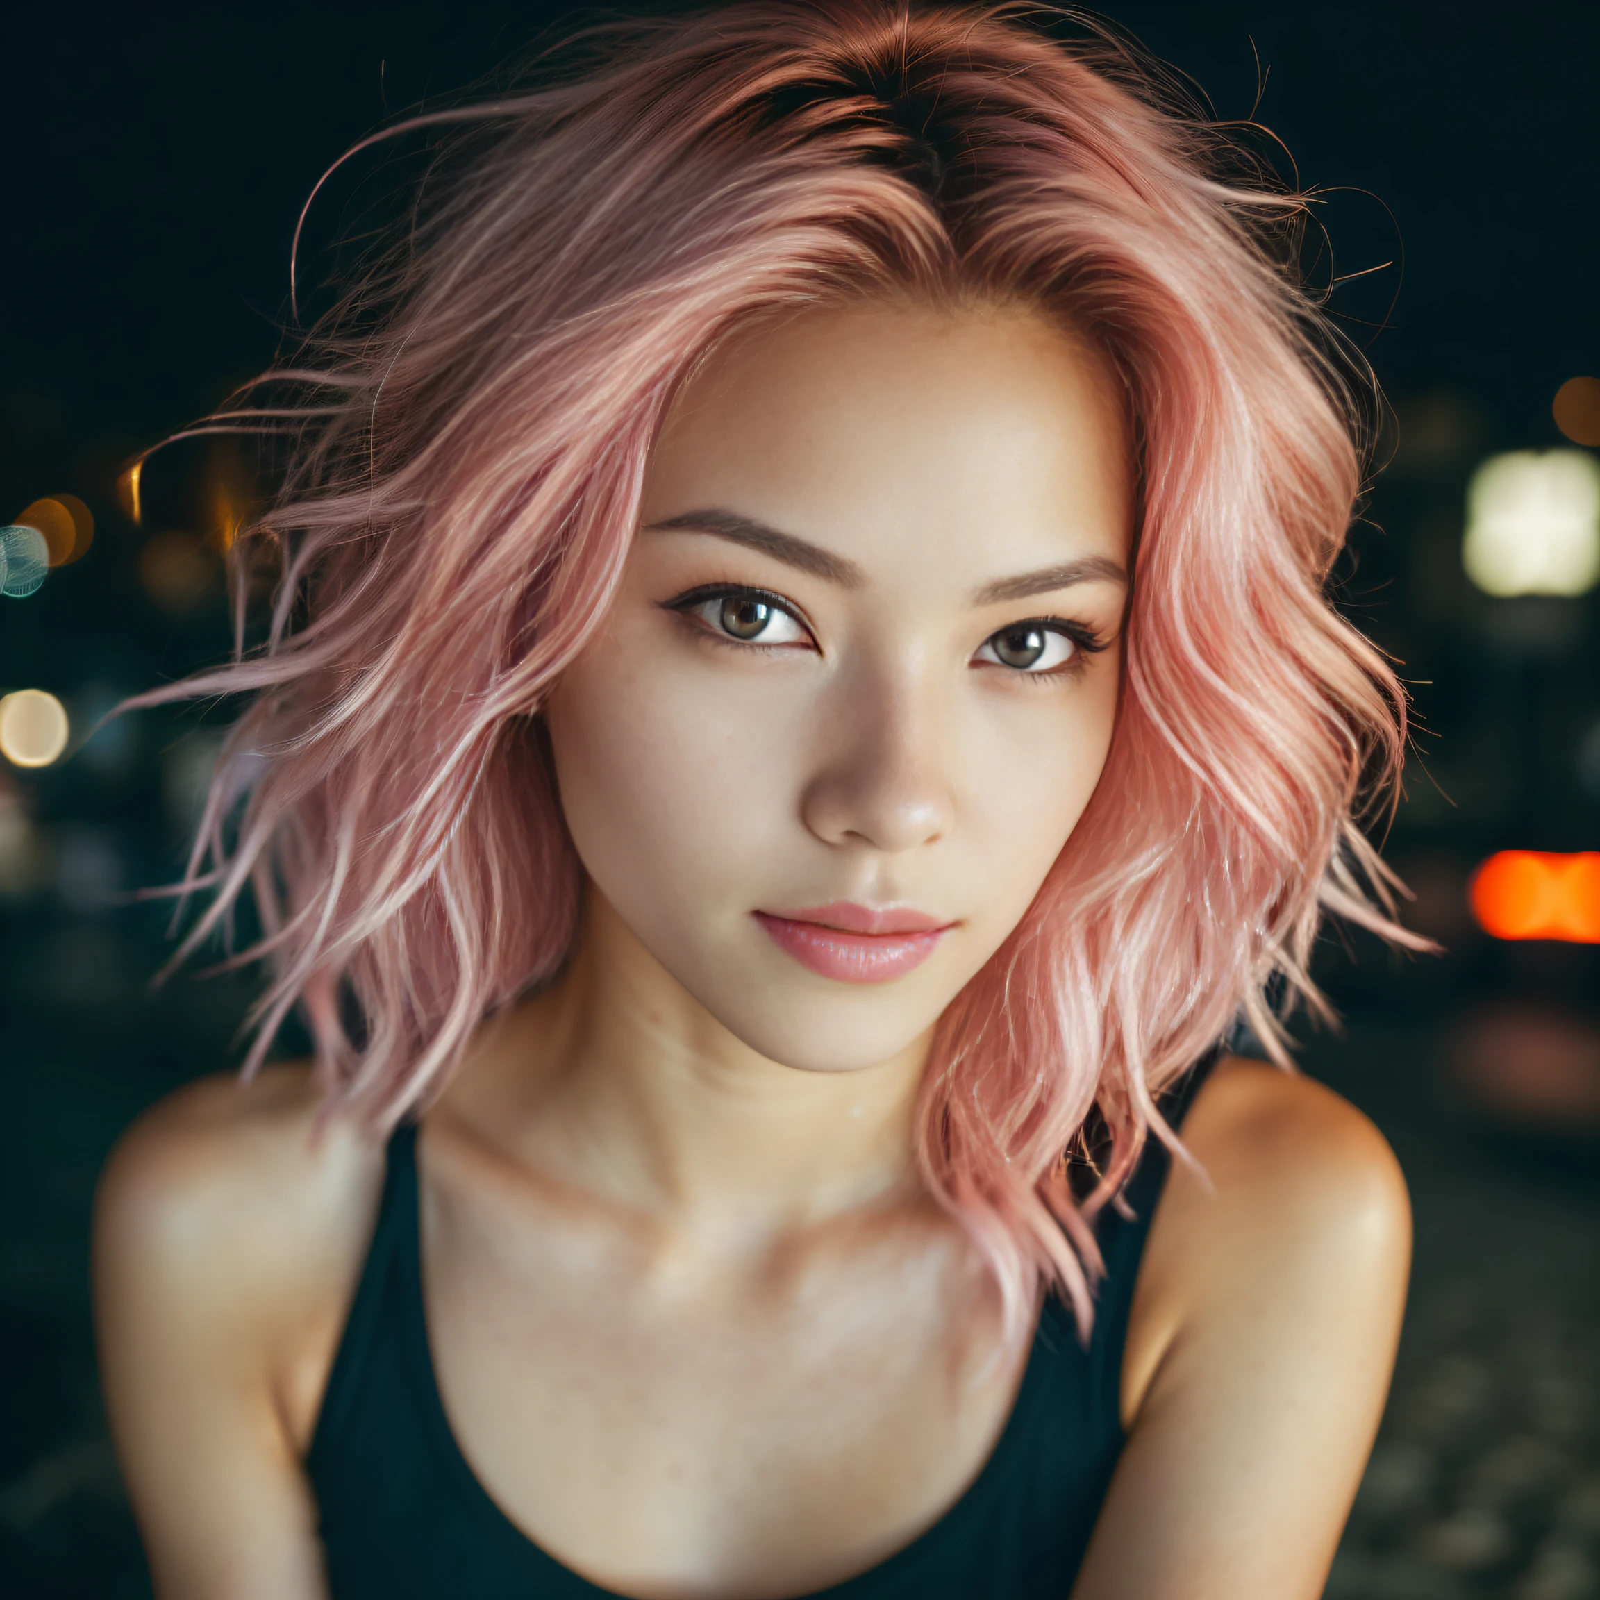
<path fill-rule="evenodd" d="M 890 853 L 944 838 L 955 824 L 944 710 L 914 674 L 898 680 L 864 674 L 840 683 L 802 795 L 811 834 L 827 845 Z"/>

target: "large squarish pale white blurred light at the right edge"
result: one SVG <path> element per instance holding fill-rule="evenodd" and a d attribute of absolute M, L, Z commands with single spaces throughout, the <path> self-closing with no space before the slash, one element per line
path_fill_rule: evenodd
<path fill-rule="evenodd" d="M 1600 579 L 1600 464 L 1581 450 L 1490 456 L 1467 485 L 1467 576 L 1490 595 L 1581 595 Z"/>

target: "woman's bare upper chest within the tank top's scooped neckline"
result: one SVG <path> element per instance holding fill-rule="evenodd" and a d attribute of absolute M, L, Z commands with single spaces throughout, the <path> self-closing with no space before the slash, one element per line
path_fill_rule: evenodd
<path fill-rule="evenodd" d="M 421 1282 L 462 1454 L 566 1566 L 648 1597 L 821 1589 L 936 1522 L 1005 1427 L 981 1272 L 917 1229 L 674 1258 L 424 1189 Z"/>

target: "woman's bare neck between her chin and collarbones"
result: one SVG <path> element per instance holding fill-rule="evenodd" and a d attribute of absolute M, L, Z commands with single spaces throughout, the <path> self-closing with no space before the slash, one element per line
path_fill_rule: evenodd
<path fill-rule="evenodd" d="M 509 1126 L 541 1168 L 670 1226 L 750 1238 L 915 1192 L 928 1045 L 850 1072 L 782 1066 L 590 891 L 568 970 L 496 1030 L 491 1054 L 520 1109 Z"/>

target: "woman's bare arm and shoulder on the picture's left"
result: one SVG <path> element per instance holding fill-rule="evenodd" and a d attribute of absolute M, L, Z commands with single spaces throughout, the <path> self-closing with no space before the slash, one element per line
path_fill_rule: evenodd
<path fill-rule="evenodd" d="M 162 1600 L 326 1586 L 299 1458 L 360 1270 L 381 1154 L 310 1139 L 302 1072 L 206 1080 L 107 1163 L 94 1306 L 117 1453 Z"/>

